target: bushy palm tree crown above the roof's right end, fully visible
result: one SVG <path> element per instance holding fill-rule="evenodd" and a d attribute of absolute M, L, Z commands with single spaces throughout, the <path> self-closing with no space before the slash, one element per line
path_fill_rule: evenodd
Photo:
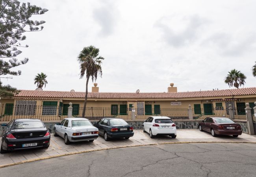
<path fill-rule="evenodd" d="M 238 89 L 239 85 L 241 87 L 241 85 L 245 84 L 245 79 L 246 76 L 241 73 L 241 71 L 237 71 L 236 69 L 234 69 L 228 72 L 228 75 L 225 78 L 225 83 L 227 83 L 229 87 L 233 87 L 234 85 L 234 87 Z"/>

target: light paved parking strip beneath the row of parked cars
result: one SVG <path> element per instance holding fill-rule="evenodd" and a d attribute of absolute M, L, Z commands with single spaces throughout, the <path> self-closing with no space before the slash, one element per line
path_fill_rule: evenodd
<path fill-rule="evenodd" d="M 0 142 L 2 142 L 0 138 Z M 51 134 L 50 147 L 48 149 L 28 149 L 13 151 L 6 154 L 0 154 L 0 168 L 9 164 L 19 164 L 40 159 L 48 159 L 51 157 L 59 157 L 75 153 L 83 153 L 102 149 L 111 149 L 118 147 L 143 146 L 150 144 L 171 144 L 186 142 L 247 142 L 256 143 L 256 137 L 245 133 L 234 138 L 233 136 L 213 137 L 210 133 L 200 132 L 198 129 L 182 129 L 177 130 L 177 138 L 173 139 L 169 136 L 159 136 L 151 139 L 148 133 L 142 130 L 134 130 L 134 136 L 130 139 L 114 139 L 105 141 L 101 136 L 94 142 L 76 142 L 65 145 L 63 138 L 54 137 Z"/>

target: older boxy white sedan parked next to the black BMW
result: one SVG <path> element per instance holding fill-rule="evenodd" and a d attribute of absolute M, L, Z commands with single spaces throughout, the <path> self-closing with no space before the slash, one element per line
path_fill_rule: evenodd
<path fill-rule="evenodd" d="M 65 144 L 77 141 L 90 141 L 98 138 L 98 128 L 85 118 L 65 118 L 54 125 L 54 136 L 64 138 Z"/>

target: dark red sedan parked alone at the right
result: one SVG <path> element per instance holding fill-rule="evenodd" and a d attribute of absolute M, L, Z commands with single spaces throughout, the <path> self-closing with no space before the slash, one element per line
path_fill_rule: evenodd
<path fill-rule="evenodd" d="M 242 134 L 241 126 L 225 117 L 207 117 L 200 122 L 199 130 L 208 131 L 212 136 L 233 135 L 237 137 Z"/>

